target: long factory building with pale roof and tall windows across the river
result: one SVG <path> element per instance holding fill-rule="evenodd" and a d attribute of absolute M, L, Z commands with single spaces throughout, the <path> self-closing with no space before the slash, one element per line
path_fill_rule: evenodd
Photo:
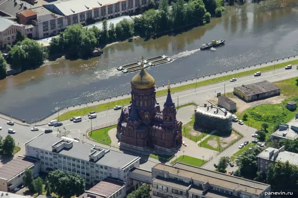
<path fill-rule="evenodd" d="M 36 27 L 36 35 L 33 35 L 43 38 L 55 35 L 70 25 L 85 25 L 88 20 L 112 19 L 145 9 L 148 5 L 149 0 L 58 0 L 17 12 L 16 17 L 19 21 L 28 21 L 29 15 L 25 17 L 26 14 L 23 12 L 29 13 L 29 10 L 33 10 L 37 15 L 37 18 L 32 20 Z M 34 15 L 33 12 L 30 13 L 30 17 Z"/>

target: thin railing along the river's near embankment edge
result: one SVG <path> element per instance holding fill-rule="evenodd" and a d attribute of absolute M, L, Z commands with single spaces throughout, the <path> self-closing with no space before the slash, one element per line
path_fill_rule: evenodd
<path fill-rule="evenodd" d="M 190 78 L 190 79 L 185 79 L 185 80 L 180 80 L 178 82 L 173 82 L 171 83 L 171 85 L 174 85 L 174 84 L 178 84 L 178 83 L 182 83 L 182 82 L 187 82 L 187 81 L 192 81 L 194 79 L 200 79 L 200 78 L 205 78 L 205 77 L 210 77 L 210 76 L 214 76 L 214 75 L 218 75 L 218 74 L 223 74 L 223 73 L 227 73 L 227 72 L 233 72 L 235 71 L 236 69 L 239 70 L 239 69 L 245 69 L 245 68 L 250 68 L 250 67 L 255 67 L 255 66 L 261 66 L 261 65 L 266 65 L 268 63 L 276 63 L 278 61 L 282 61 L 282 60 L 285 60 L 285 59 L 292 59 L 292 58 L 296 58 L 298 55 L 294 55 L 294 56 L 288 56 L 287 58 L 282 58 L 282 59 L 276 59 L 276 60 L 271 60 L 271 61 L 266 61 L 266 62 L 263 62 L 263 63 L 259 63 L 259 64 L 253 64 L 253 65 L 249 65 L 249 66 L 243 66 L 241 68 L 239 67 L 235 67 L 235 69 L 230 69 L 230 70 L 225 70 L 225 71 L 220 71 L 218 73 L 213 73 L 213 74 L 208 74 L 208 75 L 203 75 L 203 76 L 196 76 L 195 78 Z M 164 87 L 165 85 L 161 85 L 161 86 L 156 86 L 156 89 L 158 89 L 158 87 Z M 81 105 L 87 105 L 87 104 L 92 104 L 94 102 L 100 102 L 100 101 L 105 101 L 105 100 L 109 100 L 109 99 L 114 99 L 114 98 L 118 98 L 119 96 L 125 96 L 125 95 L 129 95 L 130 93 L 123 93 L 123 94 L 120 94 L 120 95 L 116 95 L 116 96 L 110 96 L 110 97 L 107 97 L 107 98 L 102 98 L 102 99 L 98 99 L 98 100 L 92 100 L 92 101 L 88 101 L 88 102 L 84 102 L 84 103 L 79 103 L 79 104 L 74 104 L 74 105 L 71 105 L 71 106 L 66 106 L 66 107 L 62 107 L 62 108 L 59 108 L 57 111 L 54 111 L 52 112 L 50 115 L 44 117 L 44 118 L 41 118 L 41 119 L 38 119 L 38 120 L 34 120 L 34 121 L 30 121 L 30 122 L 26 122 L 25 120 L 22 120 L 22 119 L 19 119 L 19 118 L 16 118 L 16 117 L 13 117 L 13 116 L 10 116 L 10 115 L 7 115 L 7 114 L 4 114 L 4 113 L 0 113 L 4 116 L 7 116 L 7 117 L 11 117 L 13 119 L 16 119 L 18 121 L 21 121 L 21 122 L 26 122 L 27 124 L 33 124 L 33 123 L 37 123 L 37 122 L 41 122 L 47 118 L 49 118 L 50 116 L 58 113 L 59 111 L 63 110 L 63 109 L 68 109 L 68 108 L 71 108 L 71 107 L 77 107 L 77 106 L 81 106 Z"/>

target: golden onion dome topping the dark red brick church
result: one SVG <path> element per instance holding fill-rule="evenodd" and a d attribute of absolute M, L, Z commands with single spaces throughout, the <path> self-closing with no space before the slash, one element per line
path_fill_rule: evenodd
<path fill-rule="evenodd" d="M 131 80 L 132 87 L 136 89 L 149 89 L 155 85 L 154 78 L 143 67 Z"/>

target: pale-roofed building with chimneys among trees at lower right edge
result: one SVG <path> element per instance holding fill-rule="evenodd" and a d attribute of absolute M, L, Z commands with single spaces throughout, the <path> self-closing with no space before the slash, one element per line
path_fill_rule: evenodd
<path fill-rule="evenodd" d="M 285 151 L 285 146 L 277 148 L 268 147 L 263 150 L 258 157 L 258 171 L 267 172 L 270 164 L 275 164 L 277 161 L 287 162 L 294 166 L 298 166 L 298 154 Z"/>

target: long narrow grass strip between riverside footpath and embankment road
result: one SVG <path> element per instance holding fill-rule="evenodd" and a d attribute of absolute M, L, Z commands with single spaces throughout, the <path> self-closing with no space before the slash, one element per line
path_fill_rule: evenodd
<path fill-rule="evenodd" d="M 298 64 L 298 60 L 289 61 L 289 62 L 281 63 L 281 64 L 276 64 L 275 68 L 276 69 L 282 68 L 282 67 L 287 66 L 289 64 L 296 65 L 296 64 Z M 184 90 L 187 90 L 187 89 L 192 89 L 192 88 L 195 88 L 196 86 L 200 87 L 200 86 L 205 86 L 205 85 L 212 84 L 212 83 L 222 82 L 222 81 L 225 81 L 225 80 L 229 80 L 230 78 L 233 78 L 233 77 L 238 77 L 239 78 L 239 77 L 243 77 L 243 76 L 246 76 L 246 75 L 252 75 L 257 71 L 264 72 L 264 71 L 269 71 L 269 70 L 273 70 L 273 69 L 274 69 L 274 66 L 265 66 L 265 67 L 252 69 L 252 70 L 249 70 L 249 71 L 241 71 L 241 69 L 240 69 L 239 71 L 236 72 L 236 74 L 233 73 L 233 74 L 229 74 L 229 75 L 225 75 L 225 76 L 221 76 L 221 77 L 217 77 L 217 78 L 213 78 L 213 79 L 199 81 L 197 83 L 194 82 L 194 83 L 191 83 L 191 84 L 186 84 L 186 85 L 182 85 L 182 86 L 173 87 L 173 88 L 171 88 L 171 93 L 176 93 L 176 92 L 184 91 Z M 290 90 L 288 90 L 288 91 L 289 91 L 289 93 L 291 93 Z M 156 92 L 156 97 L 163 96 L 163 95 L 166 95 L 166 94 L 167 94 L 166 89 L 161 90 L 161 91 L 157 91 Z M 84 108 L 85 110 L 82 107 L 82 109 L 69 111 L 69 112 L 66 112 L 66 113 L 60 115 L 59 120 L 70 119 L 74 116 L 82 116 L 84 114 L 87 114 L 90 111 L 99 112 L 99 111 L 107 110 L 108 107 L 113 108 L 116 105 L 127 105 L 127 104 L 130 103 L 130 101 L 131 101 L 131 98 L 125 98 L 125 99 L 120 99 L 120 100 L 117 100 L 117 101 L 111 101 L 109 104 L 107 102 L 107 103 L 103 103 L 103 104 L 99 104 L 99 105 L 88 106 L 88 107 Z"/>

